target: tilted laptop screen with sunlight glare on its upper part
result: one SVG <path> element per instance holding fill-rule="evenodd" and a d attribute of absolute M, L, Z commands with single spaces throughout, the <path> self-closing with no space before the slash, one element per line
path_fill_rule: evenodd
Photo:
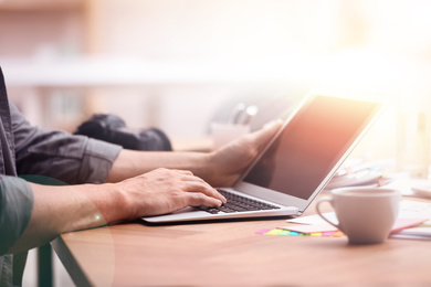
<path fill-rule="evenodd" d="M 308 97 L 243 181 L 308 200 L 380 108 L 379 103 Z"/>

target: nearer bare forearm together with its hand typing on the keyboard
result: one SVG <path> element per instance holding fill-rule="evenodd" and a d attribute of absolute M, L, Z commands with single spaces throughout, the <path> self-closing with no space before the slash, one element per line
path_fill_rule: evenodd
<path fill-rule="evenodd" d="M 48 187 L 30 183 L 29 226 L 9 252 L 25 251 L 61 233 L 170 213 L 186 206 L 220 206 L 225 199 L 188 171 L 157 169 L 118 183 Z"/>

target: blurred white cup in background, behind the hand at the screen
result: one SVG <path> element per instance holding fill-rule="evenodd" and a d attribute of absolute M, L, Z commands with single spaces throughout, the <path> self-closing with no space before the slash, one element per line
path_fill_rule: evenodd
<path fill-rule="evenodd" d="M 225 144 L 242 137 L 250 132 L 250 125 L 212 123 L 211 135 L 213 139 L 213 149 L 218 149 Z"/>

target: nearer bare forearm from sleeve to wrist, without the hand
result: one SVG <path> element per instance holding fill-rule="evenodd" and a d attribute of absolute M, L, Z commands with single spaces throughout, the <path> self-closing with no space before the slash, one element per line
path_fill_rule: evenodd
<path fill-rule="evenodd" d="M 43 245 L 64 232 L 127 220 L 126 199 L 112 184 L 30 185 L 33 213 L 29 226 L 10 249 L 12 253 Z"/>

